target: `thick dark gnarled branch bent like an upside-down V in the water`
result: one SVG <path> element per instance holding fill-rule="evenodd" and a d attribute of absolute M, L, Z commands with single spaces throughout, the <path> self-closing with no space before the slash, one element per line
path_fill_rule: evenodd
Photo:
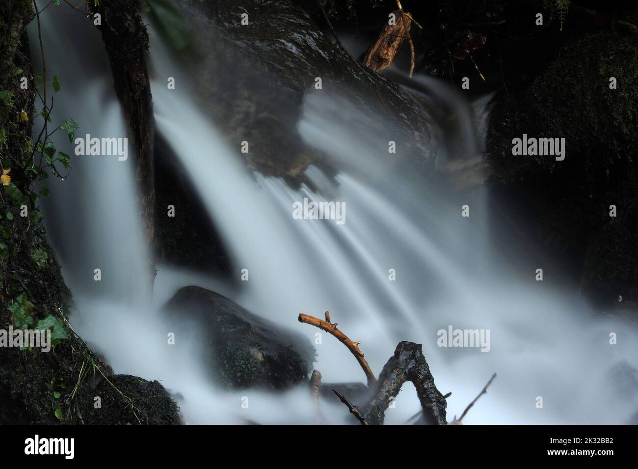
<path fill-rule="evenodd" d="M 413 342 L 399 342 L 394 355 L 388 360 L 379 375 L 378 387 L 373 398 L 362 411 L 368 424 L 383 424 L 385 410 L 390 398 L 396 398 L 406 381 L 417 389 L 426 424 L 445 425 L 447 402 L 436 389 L 422 346 Z"/>

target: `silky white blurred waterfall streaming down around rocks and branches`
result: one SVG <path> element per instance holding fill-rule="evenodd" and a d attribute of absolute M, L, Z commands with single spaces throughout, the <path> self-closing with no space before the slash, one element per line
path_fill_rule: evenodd
<path fill-rule="evenodd" d="M 100 34 L 74 12 L 71 17 L 51 10 L 56 9 L 43 15 L 47 66 L 62 85 L 52 119 L 75 119 L 77 136 L 124 136 Z M 30 27 L 39 68 L 37 30 Z M 159 308 L 180 287 L 200 285 L 313 341 L 317 331 L 299 324 L 297 315 L 329 310 L 340 329 L 362 342 L 376 373 L 399 341 L 422 343 L 436 385 L 443 393 L 452 391 L 450 419 L 498 373 L 489 394 L 464 419 L 467 424 L 623 423 L 635 412 L 637 399 L 611 371 L 623 360 L 638 364 L 634 326 L 590 315 L 568 285 L 535 281 L 537 267 L 553 267 L 535 264 L 531 240 L 512 229 L 507 207 L 489 197 L 485 186 L 459 190 L 454 175 L 442 170 L 426 176 L 395 167 L 387 153 L 391 138 L 371 133 L 367 110 L 320 92 L 306 96 L 298 131 L 330 156 L 340 169 L 336 179 L 310 167 L 309 179 L 320 188 L 315 193 L 251 175 L 239 147 L 226 145 L 205 116 L 197 90 L 167 88 L 167 77 L 177 77 L 178 84 L 188 80 L 180 79 L 182 66 L 154 34 L 151 45 L 156 131 L 186 169 L 234 259 L 235 273 L 249 269 L 249 281 L 232 290 L 223 279 L 158 265 L 149 298 L 134 158 L 73 156 L 66 135 L 56 135 L 73 169 L 64 180 L 51 180 L 43 207 L 48 237 L 74 295 L 71 322 L 116 373 L 160 380 L 179 393 L 189 423 L 313 422 L 305 387 L 279 394 L 222 391 L 198 361 L 206 350 L 197 343 L 167 345 L 170 331 Z M 450 107 L 459 117 L 452 128 L 434 123 L 441 134 L 437 168 L 477 156 L 471 108 L 433 80 L 423 79 L 420 88 L 432 105 Z M 346 223 L 294 220 L 293 202 L 304 197 L 345 202 Z M 468 218 L 461 216 L 464 204 L 470 205 Z M 100 282 L 94 281 L 96 268 Z M 389 269 L 396 270 L 396 281 L 389 280 Z M 448 325 L 489 329 L 489 352 L 438 347 L 436 333 Z M 609 332 L 618 333 L 618 345 L 609 345 Z M 338 341 L 325 336 L 316 349 L 315 368 L 325 382 L 364 381 Z M 242 396 L 250 399 L 248 409 L 240 406 Z M 537 396 L 543 408 L 535 406 Z M 345 407 L 322 406 L 329 421 L 350 421 Z M 387 422 L 403 422 L 417 410 L 408 383 Z"/>

